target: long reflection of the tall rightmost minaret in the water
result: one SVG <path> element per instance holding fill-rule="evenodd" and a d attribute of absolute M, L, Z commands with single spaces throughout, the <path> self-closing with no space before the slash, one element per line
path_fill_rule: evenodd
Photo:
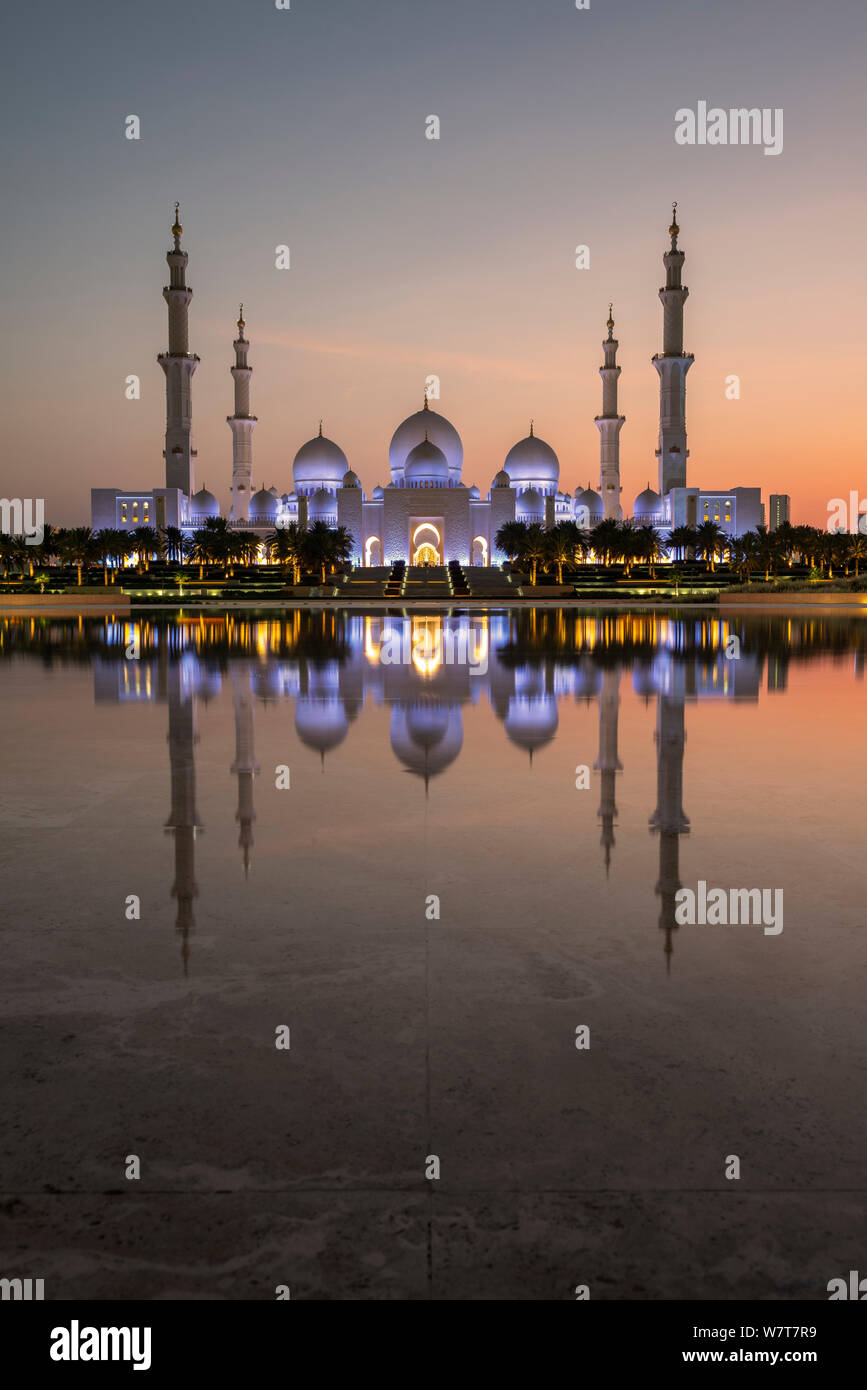
<path fill-rule="evenodd" d="M 660 929 L 666 933 L 666 956 L 671 967 L 671 933 L 677 931 L 674 913 L 679 880 L 679 837 L 689 834 L 684 815 L 684 699 L 659 695 L 656 706 L 656 810 L 650 831 L 660 837 L 660 872 L 656 891 L 660 897 Z"/>

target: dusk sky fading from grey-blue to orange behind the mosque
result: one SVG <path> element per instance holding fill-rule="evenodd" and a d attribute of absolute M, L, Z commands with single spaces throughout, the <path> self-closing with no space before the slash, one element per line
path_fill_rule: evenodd
<path fill-rule="evenodd" d="M 563 491 L 596 484 L 613 300 L 629 514 L 656 482 L 674 199 L 688 481 L 788 492 L 814 525 L 867 496 L 863 0 L 47 0 L 4 29 L 0 493 L 47 521 L 164 484 L 175 199 L 196 485 L 226 512 L 240 300 L 254 482 L 281 492 L 320 418 L 388 482 L 431 374 L 464 482 L 486 492 L 534 418 Z M 782 108 L 782 153 L 675 143 L 699 100 Z"/>

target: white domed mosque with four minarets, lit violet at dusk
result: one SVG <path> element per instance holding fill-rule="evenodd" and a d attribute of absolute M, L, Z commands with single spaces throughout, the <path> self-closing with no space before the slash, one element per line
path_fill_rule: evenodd
<path fill-rule="evenodd" d="M 165 373 L 165 486 L 142 491 L 92 489 L 92 528 L 132 531 L 139 525 L 174 525 L 192 534 L 208 518 L 220 517 L 217 496 L 204 486 L 196 491 L 196 449 L 192 430 L 192 381 L 199 357 L 189 350 L 188 253 L 181 246 L 183 228 L 175 204 L 174 246 L 167 253 L 170 284 L 163 296 L 168 306 L 168 352 L 157 359 Z M 660 528 L 717 521 L 729 535 L 741 535 L 764 520 L 761 489 L 734 486 L 704 489 L 686 482 L 686 374 L 693 363 L 684 352 L 684 304 L 689 291 L 682 284 L 685 254 L 678 249 L 677 203 L 668 228 L 670 249 L 663 256 L 666 284 L 663 352 L 653 357 L 660 381 L 660 424 L 656 449 L 659 488 L 647 486 L 635 498 L 632 518 Z M 302 445 L 292 467 L 292 488 L 279 492 L 264 485 L 254 491 L 250 378 L 243 304 L 233 342 L 235 413 L 226 417 L 232 431 L 232 482 L 228 521 L 251 530 L 263 539 L 275 528 L 325 521 L 345 527 L 353 538 L 354 566 L 406 564 L 490 566 L 507 559 L 496 546 L 506 521 L 540 523 L 545 527 L 572 520 L 593 527 L 603 518 L 622 520 L 620 481 L 618 341 L 609 310 L 603 342 L 602 414 L 599 430 L 597 489 L 560 488 L 560 460 L 531 423 L 527 438 L 506 455 L 486 493 L 463 478 L 464 450 L 454 425 L 431 410 L 425 392 L 420 410 L 397 425 L 389 445 L 389 482 L 363 491 L 343 449 L 320 432 Z"/>

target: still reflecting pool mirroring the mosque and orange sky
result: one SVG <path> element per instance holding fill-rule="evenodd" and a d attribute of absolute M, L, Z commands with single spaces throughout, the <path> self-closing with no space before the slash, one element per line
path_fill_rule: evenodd
<path fill-rule="evenodd" d="M 1 1272 L 825 1298 L 867 1259 L 866 646 L 702 610 L 3 621 Z M 678 923 L 699 884 L 778 890 L 782 930 Z"/>

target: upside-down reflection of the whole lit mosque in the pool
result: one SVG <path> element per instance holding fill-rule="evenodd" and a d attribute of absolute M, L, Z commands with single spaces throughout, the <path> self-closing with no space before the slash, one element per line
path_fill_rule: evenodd
<path fill-rule="evenodd" d="M 222 624 L 225 620 L 221 619 Z M 645 623 L 635 630 L 635 623 Z M 646 624 L 650 621 L 650 627 Z M 475 644 L 464 648 L 475 659 L 449 664 L 438 660 L 447 644 L 421 638 L 442 637 L 445 628 L 471 623 Z M 175 845 L 176 929 L 182 937 L 185 970 L 189 935 L 193 930 L 196 883 L 196 837 L 203 824 L 196 806 L 195 749 L 197 702 L 207 702 L 222 688 L 225 673 L 235 710 L 235 758 L 231 773 L 238 781 L 239 849 L 245 874 L 253 853 L 256 820 L 253 783 L 258 771 L 254 753 L 254 702 L 292 699 L 295 728 L 306 748 L 327 756 L 346 739 L 367 699 L 390 706 L 390 745 L 403 769 L 424 783 L 442 776 L 459 758 L 463 739 L 463 710 L 488 696 L 506 738 L 528 755 L 550 744 L 557 733 L 561 699 L 596 701 L 599 741 L 595 769 L 600 783 L 599 821 L 602 862 L 610 873 L 616 847 L 618 714 L 621 678 L 632 666 L 632 685 L 646 701 L 656 701 L 657 805 L 650 831 L 659 837 L 660 898 L 659 926 L 666 933 L 664 951 L 671 956 L 675 894 L 679 883 L 679 840 L 689 833 L 684 813 L 685 706 L 706 698 L 757 701 L 764 657 L 743 652 L 727 660 L 727 624 L 703 620 L 632 619 L 632 631 L 620 630 L 622 620 L 582 620 L 585 630 L 564 651 L 543 641 L 534 642 L 514 617 L 347 617 L 336 644 L 300 642 L 292 652 L 271 642 L 271 623 L 243 623 L 235 634 L 231 656 L 208 659 L 207 644 L 189 642 L 181 624 L 154 627 L 153 641 L 142 648 L 140 660 L 118 660 L 117 655 L 94 657 L 97 701 L 157 701 L 168 703 L 168 751 L 171 766 L 171 812 L 167 834 Z M 392 632 L 406 626 L 404 651 L 410 660 L 386 664 L 382 660 L 383 626 Z M 695 626 L 696 631 L 688 630 Z M 111 626 L 110 626 L 111 627 Z M 129 641 L 131 624 L 107 630 L 108 646 L 119 655 Z M 700 628 L 700 630 L 699 630 Z M 199 630 L 200 635 L 200 630 Z M 575 634 L 572 634 L 575 635 Z M 638 641 L 624 641 L 638 638 Z M 567 644 L 568 646 L 570 644 Z M 195 649 L 195 648 L 199 649 Z M 461 651 L 456 644 L 456 651 Z M 431 652 L 434 655 L 431 655 Z M 768 689 L 785 688 L 786 663 L 767 663 Z"/>

